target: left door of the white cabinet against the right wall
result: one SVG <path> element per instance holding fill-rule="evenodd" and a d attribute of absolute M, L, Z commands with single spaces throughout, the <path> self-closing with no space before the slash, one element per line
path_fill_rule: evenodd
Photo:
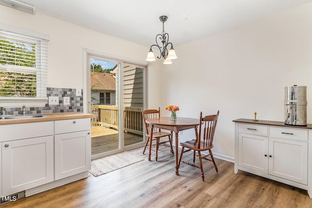
<path fill-rule="evenodd" d="M 268 173 L 268 137 L 238 134 L 238 166 Z"/>

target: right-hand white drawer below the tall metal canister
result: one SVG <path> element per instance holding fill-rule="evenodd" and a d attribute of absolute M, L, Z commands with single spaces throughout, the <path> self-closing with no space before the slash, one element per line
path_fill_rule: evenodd
<path fill-rule="evenodd" d="M 308 130 L 270 126 L 270 137 L 308 141 Z"/>

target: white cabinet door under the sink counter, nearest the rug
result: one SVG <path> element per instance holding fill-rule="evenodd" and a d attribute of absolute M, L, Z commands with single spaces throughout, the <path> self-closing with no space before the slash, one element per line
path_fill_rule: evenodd
<path fill-rule="evenodd" d="M 55 180 L 90 169 L 90 131 L 55 135 Z"/>

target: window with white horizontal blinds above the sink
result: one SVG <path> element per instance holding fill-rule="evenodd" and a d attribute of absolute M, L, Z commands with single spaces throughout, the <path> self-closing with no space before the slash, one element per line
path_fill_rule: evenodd
<path fill-rule="evenodd" d="M 47 100 L 46 83 L 47 40 L 0 30 L 1 103 Z"/>

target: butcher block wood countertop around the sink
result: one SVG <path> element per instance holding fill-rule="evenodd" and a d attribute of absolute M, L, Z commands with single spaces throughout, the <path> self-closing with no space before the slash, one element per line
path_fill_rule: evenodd
<path fill-rule="evenodd" d="M 57 121 L 57 120 L 67 120 L 67 119 L 82 119 L 82 118 L 93 117 L 92 114 L 88 114 L 88 113 L 51 113 L 51 114 L 42 114 L 42 115 L 45 115 L 46 117 L 29 118 L 29 119 L 0 119 L 0 125 L 46 122 L 46 121 Z"/>

